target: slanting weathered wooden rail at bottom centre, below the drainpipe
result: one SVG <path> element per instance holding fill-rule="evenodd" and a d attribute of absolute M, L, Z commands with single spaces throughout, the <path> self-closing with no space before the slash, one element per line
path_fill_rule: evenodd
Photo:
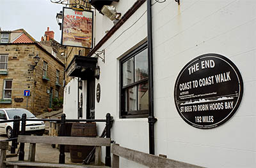
<path fill-rule="evenodd" d="M 197 165 L 187 164 L 184 162 L 179 162 L 164 157 L 157 157 L 156 155 L 150 155 L 148 153 L 143 153 L 141 151 L 131 150 L 129 148 L 124 148 L 118 144 L 111 144 L 111 153 L 113 153 L 112 167 L 119 168 L 119 157 L 126 158 L 132 162 L 136 162 L 147 167 L 161 167 L 161 168 L 171 168 L 171 167 L 182 167 L 182 168 L 202 168 Z"/>

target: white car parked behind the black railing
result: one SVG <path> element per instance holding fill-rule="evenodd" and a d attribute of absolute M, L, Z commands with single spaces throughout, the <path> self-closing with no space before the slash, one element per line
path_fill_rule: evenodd
<path fill-rule="evenodd" d="M 22 108 L 0 108 L 0 121 L 12 120 L 15 115 L 20 116 L 26 113 L 27 118 L 36 118 L 28 109 Z M 0 134 L 7 134 L 7 137 L 12 136 L 13 122 L 0 123 Z M 21 130 L 21 122 L 20 122 Z M 45 123 L 41 121 L 26 121 L 26 134 L 36 134 L 42 136 L 45 130 Z"/>

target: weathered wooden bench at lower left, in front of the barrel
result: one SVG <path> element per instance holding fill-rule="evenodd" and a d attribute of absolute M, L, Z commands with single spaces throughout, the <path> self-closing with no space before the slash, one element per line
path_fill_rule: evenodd
<path fill-rule="evenodd" d="M 110 146 L 111 139 L 103 137 L 18 136 L 18 143 L 29 143 L 28 161 L 6 161 L 8 142 L 1 141 L 0 167 L 4 168 L 6 165 L 13 165 L 13 167 L 106 167 L 99 165 L 101 146 Z M 95 166 L 35 162 L 36 143 L 95 146 Z"/>

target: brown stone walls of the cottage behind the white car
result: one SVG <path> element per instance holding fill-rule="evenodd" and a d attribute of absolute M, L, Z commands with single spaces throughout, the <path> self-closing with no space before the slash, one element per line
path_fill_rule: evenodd
<path fill-rule="evenodd" d="M 33 57 L 36 53 L 41 59 L 33 70 L 31 65 L 35 64 Z M 63 97 L 64 65 L 39 45 L 0 45 L 0 54 L 8 54 L 8 74 L 0 74 L 0 108 L 26 108 L 28 101 L 28 110 L 38 115 L 49 108 L 50 95 L 47 94 L 47 89 L 51 90 L 52 87 L 53 95 L 58 90 L 59 97 Z M 49 81 L 42 80 L 44 60 L 48 63 Z M 60 86 L 56 85 L 56 69 L 60 71 Z M 3 103 L 3 85 L 6 79 L 12 79 L 12 103 L 7 104 Z M 24 90 L 30 90 L 31 95 L 24 96 Z"/>

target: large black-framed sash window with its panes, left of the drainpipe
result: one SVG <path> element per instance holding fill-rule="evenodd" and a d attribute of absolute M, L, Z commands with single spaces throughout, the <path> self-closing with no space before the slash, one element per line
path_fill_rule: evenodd
<path fill-rule="evenodd" d="M 120 60 L 120 117 L 148 116 L 147 43 Z"/>

